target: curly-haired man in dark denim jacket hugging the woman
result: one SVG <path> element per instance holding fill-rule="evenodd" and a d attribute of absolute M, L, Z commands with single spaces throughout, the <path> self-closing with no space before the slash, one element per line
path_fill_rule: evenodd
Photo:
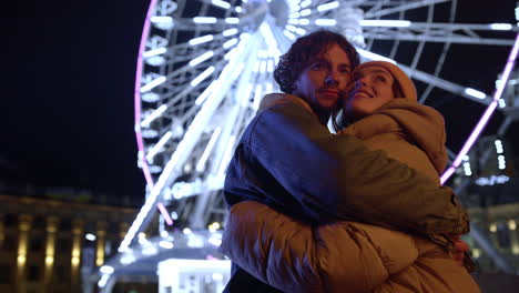
<path fill-rule="evenodd" d="M 227 204 L 233 209 L 242 202 L 260 202 L 309 226 L 362 220 L 421 235 L 466 233 L 467 214 L 449 189 L 438 186 L 384 152 L 367 149 L 354 135 L 334 135 L 326 128 L 358 64 L 354 47 L 340 34 L 323 30 L 296 40 L 274 73 L 285 93 L 264 98 L 230 163 L 224 185 Z M 267 233 L 274 232 L 267 230 Z M 257 235 L 258 239 L 271 236 Z M 224 252 L 244 249 L 240 240 L 224 235 Z M 307 247 L 302 243 L 303 251 Z M 253 249 L 263 247 L 254 245 Z M 294 271 L 307 267 L 299 261 L 314 261 L 282 255 L 277 246 L 268 252 L 274 254 L 267 259 L 286 260 Z M 314 254 L 308 251 L 303 255 Z M 262 280 L 233 265 L 224 292 L 278 292 L 266 283 L 279 284 L 283 280 L 269 282 L 269 263 L 263 265 L 267 277 Z M 369 271 L 369 267 L 360 269 Z M 305 272 L 294 274 L 288 270 L 283 277 L 301 275 Z M 309 284 L 306 290 L 325 292 L 325 286 Z"/>

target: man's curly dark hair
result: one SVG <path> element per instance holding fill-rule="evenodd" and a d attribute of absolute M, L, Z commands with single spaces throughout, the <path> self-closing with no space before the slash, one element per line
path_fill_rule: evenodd
<path fill-rule="evenodd" d="M 292 44 L 288 52 L 279 58 L 279 62 L 274 70 L 274 79 L 279 84 L 281 90 L 292 93 L 295 90 L 294 83 L 301 72 L 316 57 L 334 44 L 338 44 L 346 52 L 352 62 L 352 69 L 355 69 L 360 63 L 357 51 L 345 37 L 329 30 L 314 31 L 298 38 Z"/>

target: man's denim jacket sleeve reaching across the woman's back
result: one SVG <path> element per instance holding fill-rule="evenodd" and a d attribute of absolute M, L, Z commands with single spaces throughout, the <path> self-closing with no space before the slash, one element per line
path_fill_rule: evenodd
<path fill-rule="evenodd" d="M 467 214 L 450 189 L 353 135 L 332 134 L 304 107 L 276 104 L 253 123 L 244 148 L 299 202 L 305 216 L 421 233 L 468 232 Z"/>

